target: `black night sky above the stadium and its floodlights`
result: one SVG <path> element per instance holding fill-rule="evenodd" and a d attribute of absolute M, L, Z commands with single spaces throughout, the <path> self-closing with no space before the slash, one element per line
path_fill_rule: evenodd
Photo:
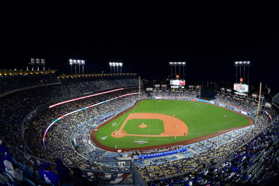
<path fill-rule="evenodd" d="M 234 62 L 250 61 L 249 84 L 279 91 L 279 11 L 270 2 L 20 1 L 1 9 L 0 69 L 44 58 L 47 69 L 70 74 L 69 59 L 82 59 L 84 73 L 110 73 L 115 61 L 123 73 L 161 78 L 170 61 L 185 61 L 186 82 L 235 82 Z"/>

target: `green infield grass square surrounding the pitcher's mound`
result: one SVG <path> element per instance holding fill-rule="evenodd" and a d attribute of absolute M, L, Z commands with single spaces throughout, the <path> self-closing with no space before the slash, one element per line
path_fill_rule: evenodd
<path fill-rule="evenodd" d="M 147 127 L 140 128 L 145 124 Z M 127 134 L 160 135 L 165 132 L 164 123 L 159 119 L 131 119 L 128 120 L 122 129 Z"/>

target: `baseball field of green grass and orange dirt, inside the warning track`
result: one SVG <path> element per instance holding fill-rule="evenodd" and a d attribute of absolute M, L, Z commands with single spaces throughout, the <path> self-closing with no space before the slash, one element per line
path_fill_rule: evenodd
<path fill-rule="evenodd" d="M 185 140 L 248 124 L 244 115 L 204 102 L 150 99 L 97 127 L 91 139 L 110 149 L 185 145 Z"/>

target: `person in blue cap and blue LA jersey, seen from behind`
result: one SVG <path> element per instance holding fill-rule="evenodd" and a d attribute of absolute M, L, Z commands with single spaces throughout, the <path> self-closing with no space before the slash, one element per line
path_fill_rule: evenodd
<path fill-rule="evenodd" d="M 40 174 L 45 182 L 52 183 L 53 185 L 60 185 L 61 178 L 54 172 L 50 171 L 50 163 L 44 162 L 41 164 Z"/>

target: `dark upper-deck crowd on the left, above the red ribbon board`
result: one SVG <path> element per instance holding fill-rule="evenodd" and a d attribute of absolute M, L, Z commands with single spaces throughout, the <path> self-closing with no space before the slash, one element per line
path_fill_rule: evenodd
<path fill-rule="evenodd" d="M 138 85 L 138 79 L 136 76 L 119 76 L 116 78 L 117 81 L 114 81 L 113 78 L 110 77 L 94 78 L 94 80 L 103 81 L 105 79 L 105 83 L 110 84 L 110 88 L 116 88 L 121 84 L 122 87 Z M 57 81 L 57 79 L 55 81 Z M 70 81 L 70 79 L 68 79 L 67 81 Z M 87 84 L 85 78 L 77 78 L 75 80 L 75 82 L 79 81 Z M 97 90 L 102 90 L 103 86 L 99 85 L 98 87 L 88 87 L 86 91 L 94 92 Z M 30 113 L 32 110 L 39 107 L 40 105 L 44 105 L 48 102 L 59 100 L 68 96 L 80 94 L 81 91 L 79 86 L 83 86 L 83 84 L 78 83 L 78 85 L 66 86 L 65 82 L 63 82 L 62 84 L 44 86 L 36 89 L 27 89 L 1 97 L 0 114 L 2 117 L 0 117 L 0 136 L 6 142 L 13 144 L 14 147 L 18 148 L 19 150 L 27 152 L 22 140 L 20 140 L 20 126 L 25 116 L 27 116 L 28 113 Z M 15 85 L 15 87 L 17 86 Z M 82 93 L 85 93 L 86 91 Z"/>

